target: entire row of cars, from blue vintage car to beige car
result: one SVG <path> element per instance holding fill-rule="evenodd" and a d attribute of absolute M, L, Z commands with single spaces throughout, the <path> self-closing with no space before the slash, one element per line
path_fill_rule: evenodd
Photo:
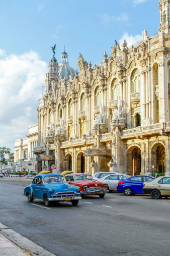
<path fill-rule="evenodd" d="M 52 201 L 70 201 L 75 206 L 84 195 L 99 195 L 103 198 L 109 191 L 125 195 L 147 193 L 153 199 L 170 196 L 170 175 L 154 179 L 145 175 L 129 177 L 119 173 L 103 173 L 100 181 L 95 179 L 92 175 L 84 173 L 69 173 L 65 176 L 39 174 L 24 189 L 24 195 L 28 197 L 29 202 L 33 202 L 34 199 L 43 200 L 47 207 Z"/>

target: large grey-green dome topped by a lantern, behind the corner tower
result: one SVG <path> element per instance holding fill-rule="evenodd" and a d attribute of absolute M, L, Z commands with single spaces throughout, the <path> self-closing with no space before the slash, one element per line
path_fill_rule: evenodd
<path fill-rule="evenodd" d="M 70 75 L 71 79 L 73 79 L 75 76 L 75 70 L 68 65 L 68 55 L 65 51 L 61 54 L 61 62 L 58 68 L 58 75 L 63 79 L 65 77 L 67 80 L 69 80 Z"/>

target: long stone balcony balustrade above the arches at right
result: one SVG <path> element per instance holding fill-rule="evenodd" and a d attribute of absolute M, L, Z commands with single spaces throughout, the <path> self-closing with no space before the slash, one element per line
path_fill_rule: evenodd
<path fill-rule="evenodd" d="M 149 135 L 163 135 L 170 132 L 170 122 L 157 123 L 147 126 L 138 126 L 133 129 L 123 130 L 121 139 L 144 138 Z"/>

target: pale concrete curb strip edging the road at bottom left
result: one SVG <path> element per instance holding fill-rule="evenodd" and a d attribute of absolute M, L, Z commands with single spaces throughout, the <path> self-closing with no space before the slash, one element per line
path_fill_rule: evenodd
<path fill-rule="evenodd" d="M 32 252 L 32 255 L 41 255 L 41 256 L 59 256 L 58 254 L 53 254 L 50 251 L 44 249 L 43 247 L 39 246 L 38 244 L 32 242 L 28 238 L 20 235 L 19 233 L 15 232 L 14 230 L 8 228 L 7 226 L 0 223 L 0 233 L 6 236 L 9 240 L 14 242 L 21 248 L 27 249 L 28 251 Z"/>

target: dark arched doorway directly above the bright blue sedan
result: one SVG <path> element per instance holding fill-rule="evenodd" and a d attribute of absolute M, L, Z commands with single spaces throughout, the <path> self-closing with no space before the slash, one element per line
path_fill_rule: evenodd
<path fill-rule="evenodd" d="M 132 146 L 127 151 L 127 174 L 140 175 L 141 172 L 141 150 Z"/>

